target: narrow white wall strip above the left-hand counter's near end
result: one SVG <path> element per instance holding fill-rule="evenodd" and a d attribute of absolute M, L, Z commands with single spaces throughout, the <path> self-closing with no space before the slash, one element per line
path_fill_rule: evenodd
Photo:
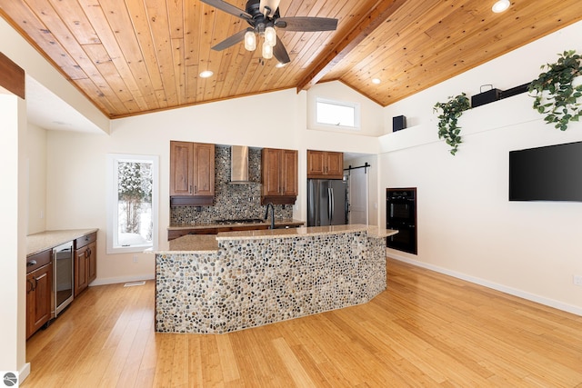
<path fill-rule="evenodd" d="M 46 130 L 28 124 L 26 131 L 28 233 L 46 230 Z"/>

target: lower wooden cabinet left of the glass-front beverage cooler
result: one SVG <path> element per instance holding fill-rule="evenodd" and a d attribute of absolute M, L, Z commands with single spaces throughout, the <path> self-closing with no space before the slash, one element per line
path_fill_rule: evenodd
<path fill-rule="evenodd" d="M 26 339 L 52 317 L 53 263 L 51 250 L 26 258 Z"/>

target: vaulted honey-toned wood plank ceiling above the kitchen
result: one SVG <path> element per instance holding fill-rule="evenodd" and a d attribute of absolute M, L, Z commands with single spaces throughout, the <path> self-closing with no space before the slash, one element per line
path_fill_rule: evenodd
<path fill-rule="evenodd" d="M 333 80 L 386 106 L 582 20 L 580 0 L 512 0 L 503 14 L 493 3 L 281 0 L 283 16 L 339 20 L 334 32 L 278 30 L 283 68 L 242 43 L 211 50 L 246 22 L 199 0 L 0 0 L 0 15 L 117 118 Z"/>

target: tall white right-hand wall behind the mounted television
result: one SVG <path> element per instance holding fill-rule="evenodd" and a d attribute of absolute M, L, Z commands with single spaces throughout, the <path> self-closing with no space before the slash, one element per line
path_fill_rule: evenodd
<path fill-rule="evenodd" d="M 467 111 L 459 120 L 456 156 L 437 140 L 432 106 L 449 95 L 477 94 L 479 85 L 507 89 L 539 74 L 557 53 L 582 52 L 582 23 L 522 47 L 426 92 L 386 107 L 386 123 L 404 114 L 412 127 L 380 139 L 380 186 L 417 186 L 416 264 L 582 314 L 581 203 L 507 200 L 508 152 L 582 140 L 582 123 L 566 132 L 544 124 L 527 94 Z M 569 166 L 580 168 L 581 166 Z M 381 224 L 386 215 L 381 213 Z"/>

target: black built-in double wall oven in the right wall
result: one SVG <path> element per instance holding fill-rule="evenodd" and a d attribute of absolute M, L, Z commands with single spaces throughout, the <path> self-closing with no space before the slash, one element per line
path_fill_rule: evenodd
<path fill-rule="evenodd" d="M 386 228 L 398 231 L 386 239 L 389 248 L 417 253 L 416 187 L 386 189 Z"/>

